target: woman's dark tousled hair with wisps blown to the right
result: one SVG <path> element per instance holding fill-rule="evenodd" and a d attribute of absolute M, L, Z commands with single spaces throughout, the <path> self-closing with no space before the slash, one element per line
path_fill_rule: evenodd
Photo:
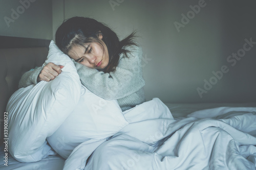
<path fill-rule="evenodd" d="M 55 42 L 63 53 L 68 54 L 74 45 L 83 46 L 84 43 L 88 42 L 98 42 L 103 47 L 98 38 L 98 35 L 102 34 L 102 40 L 109 51 L 109 64 L 104 68 L 104 72 L 110 72 L 115 70 L 122 53 L 126 57 L 127 53 L 130 53 L 124 47 L 129 45 L 138 46 L 133 40 L 137 37 L 135 33 L 133 31 L 132 34 L 119 41 L 116 33 L 103 23 L 92 18 L 76 16 L 63 21 L 56 31 Z"/>

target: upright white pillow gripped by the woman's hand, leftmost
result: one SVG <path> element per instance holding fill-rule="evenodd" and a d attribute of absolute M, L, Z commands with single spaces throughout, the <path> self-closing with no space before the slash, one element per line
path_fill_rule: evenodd
<path fill-rule="evenodd" d="M 81 82 L 72 60 L 54 41 L 50 43 L 46 65 L 65 65 L 50 82 L 18 89 L 9 99 L 9 152 L 20 162 L 34 162 L 50 151 L 46 138 L 52 135 L 74 110 L 80 99 Z"/>

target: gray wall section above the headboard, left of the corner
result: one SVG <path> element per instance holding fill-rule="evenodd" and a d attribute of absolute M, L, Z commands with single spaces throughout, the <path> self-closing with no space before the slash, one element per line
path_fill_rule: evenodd
<path fill-rule="evenodd" d="M 52 1 L 0 0 L 0 35 L 52 39 Z"/>

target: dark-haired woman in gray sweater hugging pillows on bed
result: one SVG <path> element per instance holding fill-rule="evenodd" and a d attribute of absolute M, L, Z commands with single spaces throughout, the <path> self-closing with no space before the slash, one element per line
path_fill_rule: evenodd
<path fill-rule="evenodd" d="M 119 41 L 108 27 L 92 18 L 73 17 L 62 23 L 56 45 L 73 59 L 81 83 L 106 100 L 117 100 L 122 111 L 145 102 L 140 58 L 134 32 Z M 61 73 L 53 63 L 26 72 L 19 87 L 51 81 Z"/>

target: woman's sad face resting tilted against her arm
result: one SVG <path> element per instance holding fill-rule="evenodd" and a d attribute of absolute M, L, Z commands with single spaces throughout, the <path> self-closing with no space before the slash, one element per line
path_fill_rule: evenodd
<path fill-rule="evenodd" d="M 96 42 L 85 43 L 84 46 L 73 46 L 68 55 L 87 67 L 103 69 L 109 64 L 109 52 L 106 44 L 102 41 L 102 35 L 99 35 L 99 40 L 103 44 Z"/>

